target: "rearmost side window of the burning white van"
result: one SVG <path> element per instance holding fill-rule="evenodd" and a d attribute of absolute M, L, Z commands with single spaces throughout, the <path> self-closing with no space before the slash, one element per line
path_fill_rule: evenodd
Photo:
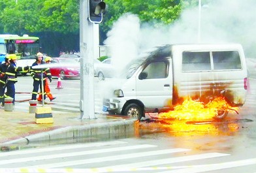
<path fill-rule="evenodd" d="M 242 69 L 240 56 L 237 51 L 212 52 L 214 70 Z"/>

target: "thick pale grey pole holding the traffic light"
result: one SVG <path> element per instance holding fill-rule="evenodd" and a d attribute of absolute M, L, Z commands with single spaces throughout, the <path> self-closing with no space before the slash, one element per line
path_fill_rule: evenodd
<path fill-rule="evenodd" d="M 88 1 L 80 0 L 80 118 L 95 119 L 93 71 L 93 23 L 88 20 Z"/>

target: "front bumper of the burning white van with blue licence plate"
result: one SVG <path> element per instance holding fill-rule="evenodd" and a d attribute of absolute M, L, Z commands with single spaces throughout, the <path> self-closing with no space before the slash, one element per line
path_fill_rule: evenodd
<path fill-rule="evenodd" d="M 112 112 L 114 114 L 121 114 L 121 110 L 126 100 L 123 98 L 111 98 L 104 99 L 103 101 L 103 111 Z"/>

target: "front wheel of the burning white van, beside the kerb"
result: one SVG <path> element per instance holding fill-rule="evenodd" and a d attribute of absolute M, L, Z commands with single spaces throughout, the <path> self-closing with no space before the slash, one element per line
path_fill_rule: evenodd
<path fill-rule="evenodd" d="M 142 108 L 135 103 L 128 104 L 124 111 L 125 116 L 129 116 L 130 118 L 136 118 L 138 120 L 142 118 L 142 114 Z"/>

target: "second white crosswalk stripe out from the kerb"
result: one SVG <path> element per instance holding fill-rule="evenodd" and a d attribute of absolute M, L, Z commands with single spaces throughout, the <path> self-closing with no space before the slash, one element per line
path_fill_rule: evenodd
<path fill-rule="evenodd" d="M 0 161 L 0 165 L 6 165 L 10 163 L 24 163 L 28 161 L 40 161 L 45 159 L 56 159 L 61 157 L 74 157 L 79 155 L 92 155 L 96 153 L 108 153 L 113 151 L 127 151 L 132 149 L 142 149 L 142 148 L 152 148 L 156 146 L 144 144 L 144 145 L 137 145 L 137 146 L 125 146 L 125 147 L 119 147 L 119 148 L 106 148 L 106 149 L 94 149 L 89 151 L 77 151 L 77 152 L 70 152 L 70 153 L 57 153 L 57 154 L 50 154 L 50 155 L 41 155 L 41 156 L 35 156 L 35 157 L 23 157 L 20 159 L 8 159 L 8 160 L 2 160 Z M 116 157 L 115 157 L 116 158 Z M 90 160 L 90 159 L 88 159 Z M 74 161 L 77 162 L 77 161 Z M 59 164 L 57 164 L 59 165 Z"/>

